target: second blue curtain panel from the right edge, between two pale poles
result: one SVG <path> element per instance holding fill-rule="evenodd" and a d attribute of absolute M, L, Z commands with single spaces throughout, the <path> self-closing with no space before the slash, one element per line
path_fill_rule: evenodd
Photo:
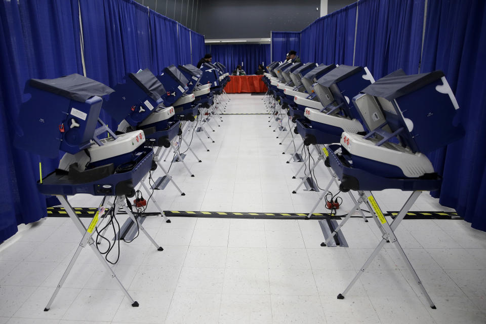
<path fill-rule="evenodd" d="M 354 65 L 368 66 L 378 79 L 398 68 L 417 73 L 425 0 L 361 0 Z"/>

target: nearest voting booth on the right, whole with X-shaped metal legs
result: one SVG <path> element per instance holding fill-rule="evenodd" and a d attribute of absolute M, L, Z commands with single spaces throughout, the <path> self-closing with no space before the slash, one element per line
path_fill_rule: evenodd
<path fill-rule="evenodd" d="M 442 178 L 434 172 L 425 154 L 463 135 L 464 130 L 454 120 L 459 105 L 441 71 L 414 75 L 404 75 L 402 71 L 392 73 L 363 89 L 353 102 L 368 134 L 344 132 L 341 153 L 330 150 L 329 163 L 341 179 L 340 189 L 364 193 L 383 236 L 338 298 L 344 298 L 389 241 L 395 245 L 430 307 L 435 308 L 394 231 L 422 191 L 440 188 Z M 374 190 L 389 188 L 412 191 L 390 223 L 372 194 Z"/>

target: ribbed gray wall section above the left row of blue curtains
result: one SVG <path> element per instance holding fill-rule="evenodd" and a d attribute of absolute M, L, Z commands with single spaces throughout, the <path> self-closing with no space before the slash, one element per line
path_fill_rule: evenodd
<path fill-rule="evenodd" d="M 204 0 L 135 0 L 184 26 L 197 31 L 200 9 Z M 206 0 L 208 1 L 208 0 Z"/>

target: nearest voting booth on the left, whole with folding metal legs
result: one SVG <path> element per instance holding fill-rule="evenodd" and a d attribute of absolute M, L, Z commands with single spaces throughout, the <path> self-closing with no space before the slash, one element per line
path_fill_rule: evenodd
<path fill-rule="evenodd" d="M 30 99 L 20 107 L 19 133 L 15 145 L 50 158 L 57 157 L 59 151 L 65 152 L 59 168 L 44 178 L 41 175 L 37 188 L 39 192 L 55 195 L 59 199 L 82 236 L 45 311 L 50 309 L 80 252 L 87 246 L 92 248 L 132 306 L 139 306 L 100 254 L 92 237 L 100 219 L 107 213 L 114 217 L 119 208 L 136 222 L 126 206 L 125 197 L 135 194 L 135 186 L 153 168 L 153 151 L 143 145 L 145 136 L 142 131 L 115 135 L 99 119 L 103 103 L 101 97 L 112 92 L 113 89 L 79 74 L 55 79 L 31 79 L 25 87 L 25 94 L 29 94 Z M 39 105 L 43 109 L 39 109 Z M 101 126 L 98 127 L 98 124 Z M 106 133 L 109 137 L 99 138 Z M 108 198 L 104 200 L 106 204 L 98 208 L 88 227 L 67 200 L 67 195 L 76 193 Z M 110 202 L 112 197 L 113 203 Z M 141 224 L 139 228 L 158 251 L 163 251 Z"/>

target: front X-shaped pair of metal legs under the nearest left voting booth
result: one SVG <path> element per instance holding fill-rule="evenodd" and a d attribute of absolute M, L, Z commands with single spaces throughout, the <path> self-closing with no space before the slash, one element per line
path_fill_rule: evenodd
<path fill-rule="evenodd" d="M 96 227 L 96 223 L 97 223 L 97 220 L 98 220 L 98 217 L 99 217 L 99 214 L 100 214 L 100 209 L 98 209 L 98 212 L 95 214 L 95 217 L 93 218 L 93 221 L 91 222 L 90 226 L 88 228 L 86 228 L 85 225 L 83 224 L 83 222 L 81 222 L 79 220 L 79 218 L 77 217 L 76 213 L 74 212 L 71 205 L 67 201 L 67 198 L 65 196 L 61 196 L 61 195 L 57 195 L 57 198 L 61 202 L 61 205 L 64 207 L 64 210 L 66 211 L 66 213 L 69 215 L 69 217 L 73 221 L 74 225 L 76 225 L 79 232 L 83 235 L 83 238 L 79 242 L 79 246 L 77 247 L 76 252 L 74 253 L 73 257 L 71 258 L 69 265 L 67 266 L 66 270 L 64 271 L 64 273 L 61 277 L 61 280 L 59 281 L 59 284 L 57 285 L 54 293 L 52 294 L 51 299 L 49 300 L 46 307 L 44 308 L 44 311 L 48 311 L 51 308 L 51 305 L 54 302 L 54 299 L 56 298 L 57 294 L 59 293 L 60 289 L 62 288 L 62 285 L 66 281 L 66 278 L 69 275 L 69 272 L 71 272 L 71 269 L 74 266 L 74 263 L 76 262 L 76 259 L 79 256 L 79 253 L 87 245 L 91 246 L 93 252 L 98 257 L 101 264 L 105 267 L 106 271 L 110 274 L 110 276 L 116 280 L 118 287 L 121 289 L 121 291 L 123 291 L 125 296 L 127 296 L 127 298 L 130 300 L 130 303 L 132 304 L 132 306 L 138 307 L 139 306 L 138 302 L 133 300 L 132 296 L 130 296 L 130 294 L 125 289 L 123 284 L 121 284 L 121 282 L 118 279 L 118 277 L 116 276 L 116 274 L 113 272 L 111 267 L 108 265 L 108 262 L 103 258 L 103 256 L 97 250 L 95 241 L 92 238 L 92 235 L 95 232 L 94 229 Z"/>

